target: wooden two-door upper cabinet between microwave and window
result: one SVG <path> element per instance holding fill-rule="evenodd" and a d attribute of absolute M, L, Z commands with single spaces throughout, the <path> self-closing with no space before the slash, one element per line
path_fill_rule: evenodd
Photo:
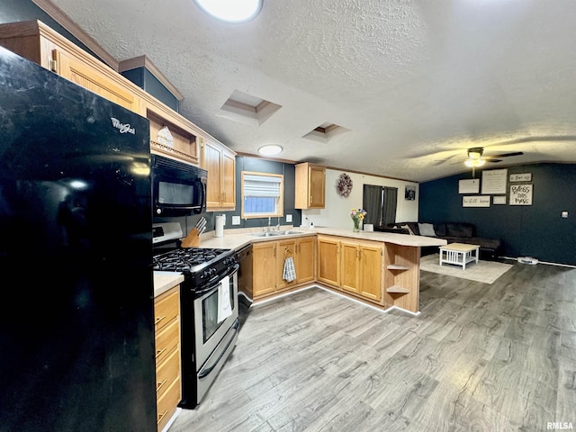
<path fill-rule="evenodd" d="M 236 153 L 217 141 L 199 137 L 201 166 L 208 171 L 206 208 L 231 211 L 236 208 Z"/>

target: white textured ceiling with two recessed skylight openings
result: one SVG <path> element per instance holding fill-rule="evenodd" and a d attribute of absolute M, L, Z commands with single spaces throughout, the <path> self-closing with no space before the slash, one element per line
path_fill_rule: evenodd
<path fill-rule="evenodd" d="M 576 2 L 264 0 L 245 24 L 192 0 L 52 0 L 117 60 L 146 55 L 181 113 L 238 152 L 414 181 L 499 164 L 576 163 Z M 235 91 L 281 105 L 260 125 L 219 116 Z M 304 139 L 332 123 L 349 131 Z"/>

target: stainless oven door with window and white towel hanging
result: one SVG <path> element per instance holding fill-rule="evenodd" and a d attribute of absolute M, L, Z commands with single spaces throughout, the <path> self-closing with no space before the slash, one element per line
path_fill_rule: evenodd
<path fill-rule="evenodd" d="M 193 308 L 196 371 L 200 371 L 238 320 L 238 265 L 230 267 L 216 283 L 202 288 Z"/>

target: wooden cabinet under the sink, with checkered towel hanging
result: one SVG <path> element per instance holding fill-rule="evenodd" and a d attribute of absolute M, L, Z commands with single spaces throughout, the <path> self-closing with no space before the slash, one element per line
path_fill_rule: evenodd
<path fill-rule="evenodd" d="M 280 293 L 301 284 L 312 283 L 315 280 L 315 245 L 313 236 L 302 238 L 286 238 L 257 242 L 252 245 L 251 281 L 243 281 L 242 285 L 251 282 L 252 298 L 258 299 L 273 293 Z M 296 279 L 291 282 L 284 280 L 284 264 L 292 257 Z M 270 271 L 270 269 L 275 269 Z M 250 290 L 248 289 L 248 292 Z"/>

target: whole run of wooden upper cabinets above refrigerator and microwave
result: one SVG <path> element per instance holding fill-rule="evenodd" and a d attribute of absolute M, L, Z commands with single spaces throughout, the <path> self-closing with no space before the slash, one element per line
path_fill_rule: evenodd
<path fill-rule="evenodd" d="M 205 137 L 202 167 L 209 171 L 208 209 L 234 210 L 236 153 L 216 139 L 208 139 L 209 134 L 192 121 L 40 21 L 0 24 L 0 45 L 148 118 L 152 153 L 198 165 L 198 137 Z M 173 138 L 167 144 L 157 139 L 158 130 L 164 127 Z"/>

